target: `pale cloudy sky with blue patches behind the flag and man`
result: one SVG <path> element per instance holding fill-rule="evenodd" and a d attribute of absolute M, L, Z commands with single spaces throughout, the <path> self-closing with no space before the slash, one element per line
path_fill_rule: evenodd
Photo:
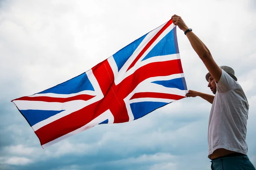
<path fill-rule="evenodd" d="M 250 104 L 256 165 L 255 0 L 0 0 L 1 170 L 209 170 L 211 105 L 185 98 L 142 119 L 98 125 L 42 149 L 10 101 L 75 77 L 180 15 L 218 65 L 234 68 Z M 177 29 L 189 89 L 209 93 L 207 69 Z"/>

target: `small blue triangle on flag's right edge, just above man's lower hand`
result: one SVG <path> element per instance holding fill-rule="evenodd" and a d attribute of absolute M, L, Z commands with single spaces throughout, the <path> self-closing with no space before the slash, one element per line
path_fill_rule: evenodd
<path fill-rule="evenodd" d="M 171 79 L 171 80 L 154 81 L 152 83 L 155 83 L 155 84 L 158 84 L 158 85 L 163 85 L 164 87 L 167 87 L 167 88 L 178 88 L 180 90 L 187 90 L 186 87 L 184 87 L 182 78 Z"/>

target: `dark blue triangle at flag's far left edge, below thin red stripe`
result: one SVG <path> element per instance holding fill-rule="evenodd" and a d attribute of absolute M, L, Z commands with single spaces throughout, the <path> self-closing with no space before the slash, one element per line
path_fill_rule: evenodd
<path fill-rule="evenodd" d="M 62 111 L 21 110 L 20 112 L 27 119 L 29 124 L 33 126 L 42 120 L 54 116 L 55 114 L 61 113 Z"/>

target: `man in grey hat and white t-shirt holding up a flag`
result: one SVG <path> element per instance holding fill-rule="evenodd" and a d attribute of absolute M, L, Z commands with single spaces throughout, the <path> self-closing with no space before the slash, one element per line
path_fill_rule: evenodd
<path fill-rule="evenodd" d="M 208 157 L 212 170 L 255 170 L 247 157 L 246 125 L 249 105 L 232 68 L 219 67 L 206 45 L 181 17 L 172 16 L 174 25 L 184 31 L 209 73 L 208 87 L 215 96 L 189 90 L 188 97 L 200 96 L 212 103 L 208 127 Z"/>

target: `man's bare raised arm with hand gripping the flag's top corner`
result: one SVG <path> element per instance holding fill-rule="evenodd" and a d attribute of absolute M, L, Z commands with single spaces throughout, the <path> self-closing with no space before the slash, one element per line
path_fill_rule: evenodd
<path fill-rule="evenodd" d="M 186 24 L 184 23 L 180 16 L 173 15 L 172 21 L 175 26 L 178 26 L 184 32 L 189 28 L 188 26 L 186 26 Z M 207 46 L 204 45 L 204 43 L 192 31 L 186 33 L 186 36 L 188 37 L 189 42 L 192 45 L 192 48 L 198 54 L 200 59 L 204 62 L 204 65 L 208 69 L 213 79 L 215 79 L 215 81 L 218 82 L 221 78 L 221 68 L 216 64 L 216 62 L 212 58 L 212 54 L 210 53 Z"/>

